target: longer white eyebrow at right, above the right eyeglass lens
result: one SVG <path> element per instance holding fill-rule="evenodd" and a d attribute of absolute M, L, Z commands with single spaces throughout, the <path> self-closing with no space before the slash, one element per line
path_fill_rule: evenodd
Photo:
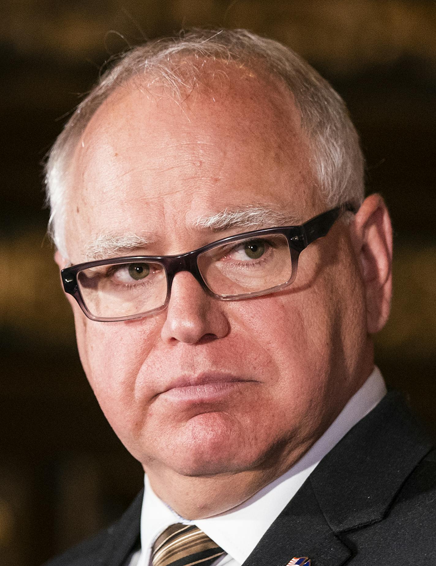
<path fill-rule="evenodd" d="M 225 208 L 213 215 L 202 215 L 194 219 L 196 229 L 220 231 L 233 227 L 255 228 L 257 226 L 282 226 L 297 224 L 296 216 L 264 206 Z"/>

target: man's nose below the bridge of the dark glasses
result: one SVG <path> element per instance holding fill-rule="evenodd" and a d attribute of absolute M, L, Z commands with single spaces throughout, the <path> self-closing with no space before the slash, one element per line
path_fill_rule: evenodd
<path fill-rule="evenodd" d="M 162 340 L 197 344 L 223 338 L 230 328 L 223 306 L 222 301 L 202 289 L 191 273 L 177 273 L 161 330 Z"/>

